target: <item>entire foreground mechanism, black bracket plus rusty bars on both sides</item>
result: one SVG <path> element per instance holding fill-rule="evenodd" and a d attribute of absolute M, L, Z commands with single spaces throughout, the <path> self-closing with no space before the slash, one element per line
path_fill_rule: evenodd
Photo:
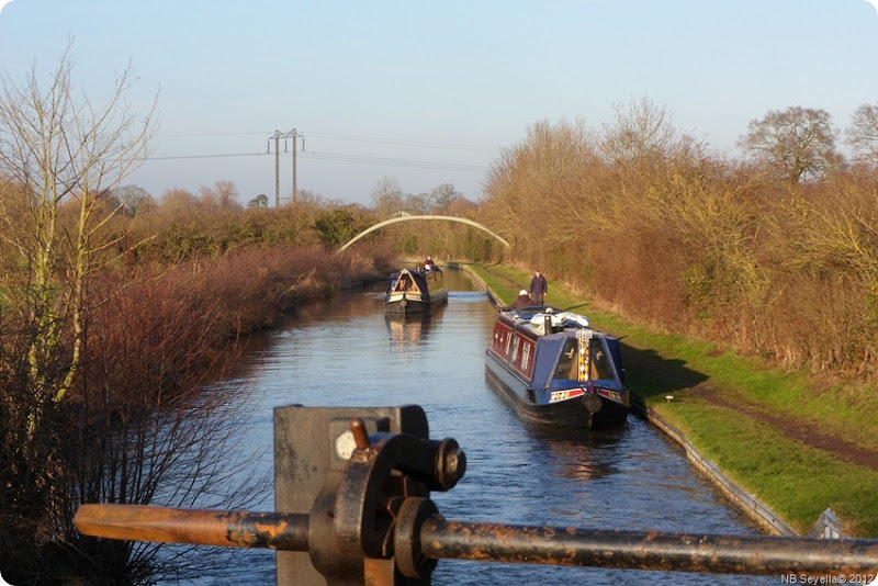
<path fill-rule="evenodd" d="M 417 406 L 274 412 L 277 512 L 83 505 L 83 534 L 278 551 L 278 584 L 430 584 L 439 560 L 844 576 L 878 570 L 878 541 L 709 536 L 448 520 L 429 498 L 463 477 L 457 441 Z M 815 578 L 817 579 L 817 578 Z"/>

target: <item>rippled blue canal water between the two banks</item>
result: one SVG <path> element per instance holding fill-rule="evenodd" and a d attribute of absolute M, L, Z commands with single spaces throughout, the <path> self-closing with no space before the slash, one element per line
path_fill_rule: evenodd
<path fill-rule="evenodd" d="M 629 416 L 607 430 L 549 431 L 524 422 L 485 380 L 484 351 L 495 309 L 465 273 L 446 271 L 448 305 L 423 320 L 384 316 L 375 291 L 303 308 L 266 334 L 245 359 L 257 407 L 246 449 L 262 450 L 272 476 L 277 406 L 418 404 L 430 438 L 454 438 L 466 452 L 464 478 L 432 493 L 446 518 L 579 528 L 754 534 L 693 469 L 685 453 Z M 273 510 L 273 493 L 257 510 Z M 274 584 L 274 555 L 246 551 L 200 585 Z M 442 560 L 437 585 L 754 584 L 754 576 L 548 567 Z"/>

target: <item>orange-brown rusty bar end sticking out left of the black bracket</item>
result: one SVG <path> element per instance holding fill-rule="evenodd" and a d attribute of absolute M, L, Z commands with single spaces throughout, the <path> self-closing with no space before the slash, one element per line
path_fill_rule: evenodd
<path fill-rule="evenodd" d="M 83 536 L 109 539 L 308 551 L 303 514 L 82 505 L 74 522 Z"/>

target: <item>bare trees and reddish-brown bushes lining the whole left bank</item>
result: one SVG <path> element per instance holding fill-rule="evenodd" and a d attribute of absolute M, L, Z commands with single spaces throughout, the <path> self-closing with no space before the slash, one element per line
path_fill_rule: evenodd
<path fill-rule="evenodd" d="M 264 494 L 270 480 L 248 474 L 258 454 L 236 449 L 249 383 L 210 383 L 243 336 L 384 278 L 394 252 L 335 255 L 338 227 L 369 219 L 318 198 L 245 210 L 218 181 L 153 201 L 125 184 L 154 132 L 124 99 L 130 69 L 101 103 L 75 88 L 69 55 L 41 79 L 0 76 L 0 571 L 13 584 L 185 579 L 211 556 L 83 538 L 77 508 Z"/>

